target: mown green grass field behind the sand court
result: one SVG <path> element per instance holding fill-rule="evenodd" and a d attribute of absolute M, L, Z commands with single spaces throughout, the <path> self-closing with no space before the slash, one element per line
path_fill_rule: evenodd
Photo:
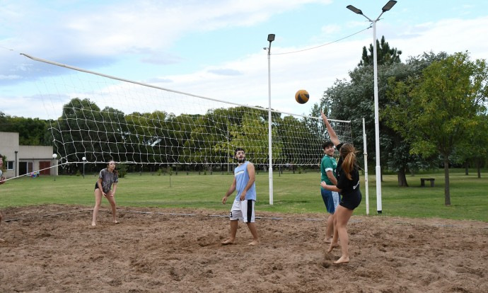
<path fill-rule="evenodd" d="M 62 204 L 93 206 L 96 175 L 17 178 L 0 186 L 0 207 Z M 268 173 L 257 174 L 260 211 L 309 213 L 325 212 L 320 197 L 320 173 L 293 174 L 274 172 L 273 205 L 269 205 Z M 420 178 L 436 178 L 434 188 L 420 187 Z M 397 187 L 396 175 L 384 175 L 382 183 L 382 215 L 395 217 L 439 217 L 472 219 L 488 222 L 488 172 L 477 178 L 474 170 L 466 176 L 464 169 L 451 169 L 451 206 L 444 205 L 443 170 L 407 176 L 409 188 Z M 178 175 L 158 176 L 156 173 L 132 173 L 120 178 L 117 205 L 120 207 L 179 207 L 206 208 L 228 211 L 223 197 L 233 176 L 226 173 L 203 175 L 180 172 Z M 366 214 L 364 178 L 361 178 L 363 201 L 354 214 Z M 369 176 L 369 214 L 380 217 L 376 207 L 376 181 Z M 235 193 L 234 193 L 235 195 Z M 232 195 L 231 195 L 232 197 Z M 103 207 L 108 202 L 103 200 Z"/>

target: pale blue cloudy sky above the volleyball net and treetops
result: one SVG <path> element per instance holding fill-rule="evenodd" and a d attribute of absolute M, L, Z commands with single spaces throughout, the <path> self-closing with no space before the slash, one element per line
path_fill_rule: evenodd
<path fill-rule="evenodd" d="M 0 112 L 55 119 L 29 54 L 174 91 L 306 114 L 349 79 L 388 0 L 0 0 Z M 268 34 L 275 34 L 268 51 Z M 488 1 L 398 0 L 376 36 L 402 51 L 488 57 Z M 266 50 L 265 50 L 266 49 Z M 51 75 L 51 76 L 49 76 Z M 310 100 L 298 104 L 296 91 Z M 66 96 L 64 103 L 69 102 Z M 59 105 L 54 105 L 57 107 Z M 114 105 L 114 108 L 117 108 Z M 160 109 L 164 110 L 164 109 Z M 59 113 L 50 117 L 49 113 Z M 331 117 L 333 118 L 333 117 Z"/>

